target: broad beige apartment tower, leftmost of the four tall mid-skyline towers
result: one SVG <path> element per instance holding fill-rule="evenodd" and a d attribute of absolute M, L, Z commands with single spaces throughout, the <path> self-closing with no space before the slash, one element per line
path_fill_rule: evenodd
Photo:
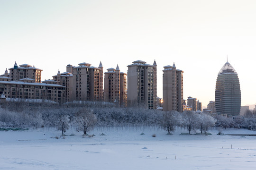
<path fill-rule="evenodd" d="M 80 63 L 73 67 L 73 97 L 71 100 L 103 101 L 103 66 Z"/>

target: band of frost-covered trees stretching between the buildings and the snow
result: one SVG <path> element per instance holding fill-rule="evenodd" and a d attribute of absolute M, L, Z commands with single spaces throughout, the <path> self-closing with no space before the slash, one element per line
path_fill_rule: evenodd
<path fill-rule="evenodd" d="M 192 133 L 206 133 L 210 127 L 256 128 L 256 112 L 248 110 L 244 117 L 224 117 L 193 111 L 148 110 L 143 107 L 12 103 L 0 108 L 0 127 L 54 127 L 65 131 L 73 127 L 87 134 L 95 126 L 160 126 L 168 134 L 176 127 Z"/>

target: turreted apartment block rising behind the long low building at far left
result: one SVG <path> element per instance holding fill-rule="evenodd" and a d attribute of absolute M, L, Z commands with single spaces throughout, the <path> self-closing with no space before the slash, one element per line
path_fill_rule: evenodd
<path fill-rule="evenodd" d="M 18 81 L 23 78 L 34 79 L 36 83 L 41 82 L 42 69 L 32 67 L 28 64 L 17 65 L 16 61 L 13 68 L 9 68 L 9 77 L 12 81 Z"/>

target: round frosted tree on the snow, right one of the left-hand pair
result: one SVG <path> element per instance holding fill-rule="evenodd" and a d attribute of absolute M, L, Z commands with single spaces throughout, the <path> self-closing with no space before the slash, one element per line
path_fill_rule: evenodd
<path fill-rule="evenodd" d="M 86 135 L 97 123 L 97 118 L 91 109 L 82 108 L 76 112 L 74 121 L 76 122 L 78 129 L 83 130 L 83 135 Z"/>

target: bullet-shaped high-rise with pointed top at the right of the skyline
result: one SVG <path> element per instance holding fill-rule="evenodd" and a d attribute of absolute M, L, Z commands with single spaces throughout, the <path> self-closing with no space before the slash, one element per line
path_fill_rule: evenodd
<path fill-rule="evenodd" d="M 237 116 L 241 109 L 241 91 L 236 70 L 226 62 L 220 69 L 215 88 L 217 113 Z"/>

